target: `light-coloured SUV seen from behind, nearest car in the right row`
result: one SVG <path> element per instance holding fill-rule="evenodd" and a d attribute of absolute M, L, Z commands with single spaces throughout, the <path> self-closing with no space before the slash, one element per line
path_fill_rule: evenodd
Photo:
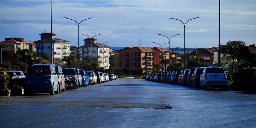
<path fill-rule="evenodd" d="M 200 87 L 221 87 L 227 89 L 227 75 L 222 67 L 205 67 L 200 75 Z"/>

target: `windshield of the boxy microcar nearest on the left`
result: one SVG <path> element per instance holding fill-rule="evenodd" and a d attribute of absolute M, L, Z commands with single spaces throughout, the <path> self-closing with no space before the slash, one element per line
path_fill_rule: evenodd
<path fill-rule="evenodd" d="M 47 76 L 51 75 L 50 66 L 31 66 L 28 71 L 32 76 Z"/>

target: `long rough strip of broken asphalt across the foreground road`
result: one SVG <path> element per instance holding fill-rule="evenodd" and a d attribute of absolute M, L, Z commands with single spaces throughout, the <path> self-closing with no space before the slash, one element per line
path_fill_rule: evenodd
<path fill-rule="evenodd" d="M 2 104 L 2 103 L 0 103 Z M 172 109 L 170 105 L 155 103 L 116 103 L 116 102 L 9 102 L 2 105 L 55 105 L 55 106 L 93 106 L 109 108 L 149 108 L 149 109 Z"/>

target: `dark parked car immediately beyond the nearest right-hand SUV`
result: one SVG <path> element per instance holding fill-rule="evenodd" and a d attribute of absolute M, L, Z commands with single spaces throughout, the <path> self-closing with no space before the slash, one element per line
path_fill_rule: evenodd
<path fill-rule="evenodd" d="M 203 71 L 204 71 L 204 67 L 203 68 L 195 68 L 195 71 L 193 72 L 193 74 L 191 76 L 191 86 L 192 87 L 197 87 L 200 85 L 200 75 L 202 74 Z"/>

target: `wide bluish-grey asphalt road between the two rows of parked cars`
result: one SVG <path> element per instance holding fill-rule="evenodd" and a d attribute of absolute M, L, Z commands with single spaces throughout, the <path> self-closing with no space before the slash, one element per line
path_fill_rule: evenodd
<path fill-rule="evenodd" d="M 120 79 L 0 97 L 0 128 L 256 128 L 256 93 Z"/>

